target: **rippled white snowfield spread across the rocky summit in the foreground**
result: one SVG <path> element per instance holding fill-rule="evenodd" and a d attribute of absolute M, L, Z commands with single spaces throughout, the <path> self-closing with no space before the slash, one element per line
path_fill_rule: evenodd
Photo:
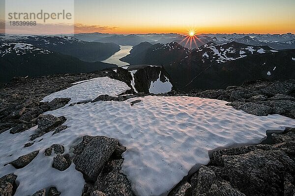
<path fill-rule="evenodd" d="M 104 84 L 105 79 L 96 78 L 70 87 L 66 97 L 81 100 L 106 94 L 107 88 L 97 85 Z M 119 83 L 109 82 L 113 85 Z M 91 91 L 91 86 L 96 90 Z M 109 94 L 114 95 L 124 88 L 123 85 L 118 86 Z M 61 95 L 54 94 L 46 100 Z M 61 196 L 81 196 L 84 186 L 82 173 L 75 170 L 73 163 L 64 172 L 53 169 L 54 155 L 45 157 L 44 150 L 52 144 L 62 144 L 65 153 L 71 153 L 71 147 L 79 143 L 82 136 L 105 135 L 117 138 L 121 145 L 127 147 L 123 154 L 122 172 L 131 180 L 135 193 L 159 196 L 167 194 L 193 167 L 197 169 L 207 164 L 209 150 L 259 143 L 266 136 L 266 129 L 295 126 L 293 119 L 280 115 L 249 115 L 226 106 L 226 102 L 221 100 L 149 96 L 140 98 L 142 102 L 131 106 L 130 102 L 136 99 L 98 101 L 50 111 L 48 113 L 55 116 L 65 116 L 67 121 L 64 124 L 69 127 L 53 136 L 52 133 L 43 135 L 43 140 L 36 139 L 31 147 L 24 148 L 23 145 L 36 127 L 15 135 L 9 131 L 2 133 L 0 148 L 5 147 L 5 150 L 0 151 L 0 175 L 11 172 L 18 175 L 17 181 L 21 183 L 15 196 L 32 195 L 36 190 L 50 186 L 56 186 Z M 19 170 L 11 165 L 3 167 L 34 150 L 40 152 L 27 167 Z"/>

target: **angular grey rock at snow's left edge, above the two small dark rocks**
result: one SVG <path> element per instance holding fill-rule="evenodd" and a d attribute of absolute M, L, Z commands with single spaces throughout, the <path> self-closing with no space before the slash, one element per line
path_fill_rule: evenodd
<path fill-rule="evenodd" d="M 59 125 L 61 125 L 62 123 L 64 123 L 66 121 L 65 117 L 55 117 L 51 114 L 47 114 L 47 115 L 40 115 L 38 118 L 38 128 L 41 131 L 44 132 L 49 132 L 52 129 L 55 129 L 56 127 L 58 127 Z"/>

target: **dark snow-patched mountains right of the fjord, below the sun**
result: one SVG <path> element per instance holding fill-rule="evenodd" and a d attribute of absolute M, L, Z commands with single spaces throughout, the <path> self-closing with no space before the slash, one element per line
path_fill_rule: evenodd
<path fill-rule="evenodd" d="M 121 59 L 130 64 L 162 65 L 184 91 L 226 88 L 256 79 L 295 78 L 295 49 L 275 50 L 237 42 L 208 43 L 187 49 L 177 43 L 141 43 Z"/>

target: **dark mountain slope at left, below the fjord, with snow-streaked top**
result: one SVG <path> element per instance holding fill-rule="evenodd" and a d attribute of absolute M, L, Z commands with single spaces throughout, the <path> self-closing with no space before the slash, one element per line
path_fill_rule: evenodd
<path fill-rule="evenodd" d="M 36 48 L 29 44 L 1 44 L 0 65 L 0 82 L 7 82 L 13 76 L 88 73 L 117 67 L 102 62 L 84 62 L 69 55 Z"/>

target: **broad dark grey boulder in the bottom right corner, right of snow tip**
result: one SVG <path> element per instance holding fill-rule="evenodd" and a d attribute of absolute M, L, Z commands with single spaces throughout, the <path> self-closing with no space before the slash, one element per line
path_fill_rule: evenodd
<path fill-rule="evenodd" d="M 230 183 L 251 196 L 277 196 L 282 179 L 295 171 L 295 163 L 281 150 L 261 150 L 235 156 L 222 156 Z M 267 172 L 266 172 L 267 171 Z"/>

